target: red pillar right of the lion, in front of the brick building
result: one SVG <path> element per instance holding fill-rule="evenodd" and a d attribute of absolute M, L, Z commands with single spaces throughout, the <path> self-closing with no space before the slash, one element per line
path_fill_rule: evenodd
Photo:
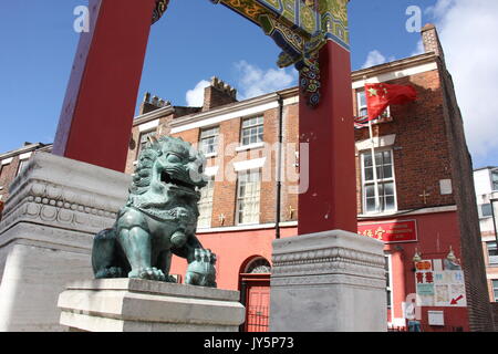
<path fill-rule="evenodd" d="M 353 98 L 350 52 L 332 41 L 320 51 L 321 100 L 301 94 L 300 143 L 309 144 L 308 190 L 299 196 L 299 235 L 356 229 Z M 301 159 L 307 158 L 301 153 Z M 300 164 L 301 168 L 303 163 Z M 301 171 L 301 178 L 305 173 Z"/>

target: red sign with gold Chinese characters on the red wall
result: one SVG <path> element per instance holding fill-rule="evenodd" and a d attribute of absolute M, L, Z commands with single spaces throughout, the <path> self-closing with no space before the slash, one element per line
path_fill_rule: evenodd
<path fill-rule="evenodd" d="M 384 243 L 413 242 L 417 240 L 416 220 L 360 222 L 357 233 Z"/>

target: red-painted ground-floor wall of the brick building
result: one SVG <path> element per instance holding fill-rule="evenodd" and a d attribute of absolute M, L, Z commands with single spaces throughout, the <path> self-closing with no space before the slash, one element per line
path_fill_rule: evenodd
<path fill-rule="evenodd" d="M 385 220 L 393 220 L 386 218 Z M 397 220 L 416 220 L 416 242 L 386 244 L 384 250 L 392 256 L 392 316 L 403 317 L 402 302 L 411 293 L 415 293 L 415 272 L 413 257 L 415 248 L 423 259 L 444 259 L 449 252 L 449 246 L 457 258 L 460 258 L 460 241 L 456 211 L 437 212 L 417 216 L 404 216 Z M 372 220 L 383 221 L 383 220 Z M 365 220 L 362 220 L 365 222 Z M 295 227 L 282 228 L 282 237 L 295 236 Z M 219 289 L 239 290 L 239 273 L 243 266 L 255 257 L 264 257 L 271 262 L 271 242 L 274 240 L 274 229 L 199 233 L 203 246 L 211 249 L 218 257 L 217 281 Z M 185 274 L 186 261 L 174 259 L 172 274 Z M 445 326 L 432 327 L 427 324 L 427 311 L 444 311 Z M 467 308 L 423 308 L 422 326 L 425 332 L 453 331 L 463 327 L 468 331 Z"/>

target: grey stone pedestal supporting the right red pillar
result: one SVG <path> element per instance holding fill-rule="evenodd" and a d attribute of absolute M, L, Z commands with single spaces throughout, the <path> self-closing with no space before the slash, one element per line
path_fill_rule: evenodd
<path fill-rule="evenodd" d="M 387 330 L 383 243 L 333 230 L 273 241 L 270 332 Z"/>

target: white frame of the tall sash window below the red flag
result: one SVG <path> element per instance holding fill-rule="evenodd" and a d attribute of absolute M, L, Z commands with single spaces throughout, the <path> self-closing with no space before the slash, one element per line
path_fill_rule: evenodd
<path fill-rule="evenodd" d="M 397 211 L 397 190 L 396 190 L 396 175 L 395 175 L 395 168 L 394 168 L 394 152 L 391 147 L 387 148 L 377 148 L 375 149 L 375 155 L 376 154 L 384 154 L 385 152 L 390 152 L 391 154 L 391 168 L 392 168 L 392 177 L 390 178 L 378 178 L 377 176 L 377 186 L 380 187 L 381 185 L 385 185 L 388 183 L 393 184 L 393 198 L 394 198 L 394 208 L 393 209 L 388 209 L 385 210 L 385 188 L 384 190 L 384 208 L 382 205 L 382 200 L 383 200 L 383 196 L 380 195 L 380 202 L 381 202 L 381 210 L 374 210 L 374 211 L 369 211 L 367 210 L 367 202 L 366 202 L 366 186 L 374 186 L 375 188 L 375 180 L 369 180 L 366 181 L 366 177 L 365 177 L 365 156 L 366 155 L 372 155 L 371 150 L 364 150 L 360 154 L 360 169 L 361 169 L 361 178 L 362 178 L 362 211 L 364 215 L 380 215 L 380 214 L 392 214 Z M 375 158 L 375 157 L 374 157 Z M 382 167 L 384 167 L 385 165 L 383 164 Z M 376 166 L 378 168 L 378 166 Z M 373 167 L 372 167 L 373 169 Z M 373 176 L 372 176 L 373 177 Z"/>

